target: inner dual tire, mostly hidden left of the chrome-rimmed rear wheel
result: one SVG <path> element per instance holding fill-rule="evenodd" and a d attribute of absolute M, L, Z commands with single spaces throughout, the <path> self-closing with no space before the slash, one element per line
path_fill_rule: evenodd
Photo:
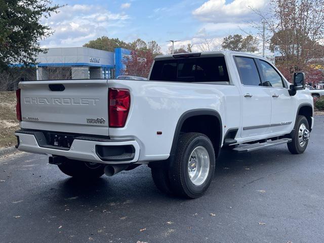
<path fill-rule="evenodd" d="M 154 162 L 151 166 L 151 174 L 157 189 L 166 194 L 173 194 L 170 186 L 168 161 Z"/>

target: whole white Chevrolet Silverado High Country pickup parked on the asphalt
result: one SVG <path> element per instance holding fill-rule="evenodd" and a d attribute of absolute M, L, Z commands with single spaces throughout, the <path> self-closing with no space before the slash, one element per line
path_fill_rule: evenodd
<path fill-rule="evenodd" d="M 66 175 L 91 179 L 147 164 L 163 192 L 189 198 L 209 187 L 222 147 L 287 143 L 303 153 L 313 100 L 266 59 L 238 52 L 158 56 L 148 80 L 20 82 L 17 148 L 50 154 Z"/>

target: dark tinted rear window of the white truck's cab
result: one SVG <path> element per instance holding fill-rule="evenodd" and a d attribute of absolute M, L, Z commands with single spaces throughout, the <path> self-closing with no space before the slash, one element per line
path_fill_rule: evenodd
<path fill-rule="evenodd" d="M 229 82 L 229 77 L 224 57 L 200 57 L 155 61 L 150 80 Z"/>

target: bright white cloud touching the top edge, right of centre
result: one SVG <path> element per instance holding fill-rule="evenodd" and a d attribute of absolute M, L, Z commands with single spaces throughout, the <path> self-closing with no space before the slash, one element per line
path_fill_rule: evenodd
<path fill-rule="evenodd" d="M 225 0 L 209 0 L 192 14 L 204 22 L 242 22 L 256 18 L 251 8 L 262 9 L 267 3 L 267 0 L 234 0 L 226 4 Z"/>

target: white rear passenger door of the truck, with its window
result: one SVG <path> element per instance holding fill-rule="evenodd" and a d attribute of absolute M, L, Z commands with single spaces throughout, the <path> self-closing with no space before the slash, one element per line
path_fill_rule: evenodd
<path fill-rule="evenodd" d="M 234 60 L 241 81 L 241 137 L 267 134 L 271 118 L 271 97 L 269 91 L 262 87 L 256 60 L 244 56 L 235 56 Z"/>

